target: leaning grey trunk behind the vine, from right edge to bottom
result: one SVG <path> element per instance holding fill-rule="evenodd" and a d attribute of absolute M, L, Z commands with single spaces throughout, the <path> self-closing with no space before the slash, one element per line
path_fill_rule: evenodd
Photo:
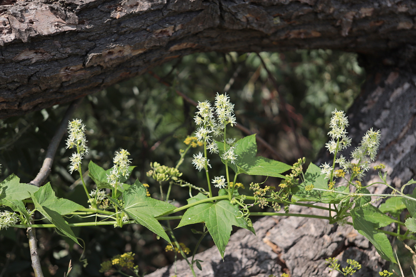
<path fill-rule="evenodd" d="M 409 64 L 394 56 L 365 59 L 367 74 L 363 90 L 349 109 L 349 135 L 352 147 L 359 144 L 371 127 L 381 130 L 381 143 L 376 164 L 384 163 L 389 172 L 388 181 L 400 188 L 416 171 L 416 75 Z M 385 65 L 389 61 L 389 65 Z M 352 148 L 351 147 L 351 148 Z M 348 156 L 346 152 L 344 156 Z M 320 155 L 317 164 L 328 162 L 329 157 Z M 366 181 L 374 182 L 379 176 L 370 170 Z M 415 186 L 409 186 L 407 193 Z M 386 186 L 372 186 L 372 193 L 390 193 Z M 405 192 L 406 192 L 405 190 Z M 379 202 L 376 202 L 379 204 Z M 326 215 L 309 208 L 291 206 L 291 213 Z M 225 249 L 224 261 L 216 247 L 196 256 L 203 260 L 201 277 L 268 277 L 288 273 L 291 277 L 342 276 L 329 273 L 325 264 L 328 257 L 337 257 L 342 266 L 347 259 L 362 264 L 354 276 L 380 276 L 379 271 L 388 266 L 374 246 L 352 226 L 329 225 L 326 220 L 303 217 L 273 216 L 255 222 L 257 236 L 248 230 L 238 230 L 230 238 Z M 148 277 L 174 275 L 173 265 L 153 272 Z M 179 261 L 178 277 L 192 276 L 188 265 Z"/>

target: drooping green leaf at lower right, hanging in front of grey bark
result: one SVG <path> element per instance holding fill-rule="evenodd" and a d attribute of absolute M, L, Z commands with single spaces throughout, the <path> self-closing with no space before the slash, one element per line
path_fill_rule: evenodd
<path fill-rule="evenodd" d="M 394 220 L 371 205 L 352 210 L 351 217 L 354 228 L 374 245 L 381 257 L 397 263 L 389 239 L 378 230 Z"/>

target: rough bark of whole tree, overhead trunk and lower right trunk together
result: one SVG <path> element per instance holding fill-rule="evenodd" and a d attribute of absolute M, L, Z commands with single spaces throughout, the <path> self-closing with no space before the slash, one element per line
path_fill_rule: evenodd
<path fill-rule="evenodd" d="M 392 184 L 414 176 L 414 1 L 2 2 L 13 5 L 0 6 L 1 118 L 72 101 L 196 51 L 355 51 L 368 75 L 349 111 L 350 135 L 357 145 L 370 127 L 380 129 L 378 161 L 387 165 Z M 349 226 L 276 216 L 255 228 L 257 237 L 245 230 L 232 236 L 224 262 L 216 248 L 199 254 L 205 261 L 200 276 L 329 276 L 324 259 L 334 255 L 360 260 L 364 269 L 357 276 L 378 276 L 385 266 Z M 181 262 L 178 270 L 189 275 Z"/>

